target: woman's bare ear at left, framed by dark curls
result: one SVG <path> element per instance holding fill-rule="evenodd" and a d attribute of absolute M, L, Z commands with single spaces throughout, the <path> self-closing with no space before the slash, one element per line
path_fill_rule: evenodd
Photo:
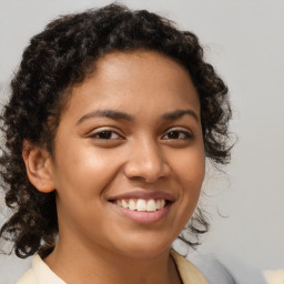
<path fill-rule="evenodd" d="M 52 192 L 55 186 L 52 180 L 52 161 L 50 153 L 45 149 L 34 146 L 29 141 L 24 140 L 22 144 L 22 158 L 30 182 L 40 192 Z"/>

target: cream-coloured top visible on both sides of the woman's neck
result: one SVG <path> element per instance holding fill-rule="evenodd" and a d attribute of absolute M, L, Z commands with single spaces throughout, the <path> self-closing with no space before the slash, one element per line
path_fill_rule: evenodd
<path fill-rule="evenodd" d="M 209 284 L 202 273 L 187 260 L 175 251 L 171 251 L 183 284 Z M 31 268 L 17 284 L 67 284 L 37 254 L 32 260 Z"/>

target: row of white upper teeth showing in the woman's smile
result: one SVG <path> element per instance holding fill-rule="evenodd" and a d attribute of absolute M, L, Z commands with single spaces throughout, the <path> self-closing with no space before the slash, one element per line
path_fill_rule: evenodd
<path fill-rule="evenodd" d="M 165 206 L 165 200 L 116 200 L 115 204 L 131 211 L 154 212 Z"/>

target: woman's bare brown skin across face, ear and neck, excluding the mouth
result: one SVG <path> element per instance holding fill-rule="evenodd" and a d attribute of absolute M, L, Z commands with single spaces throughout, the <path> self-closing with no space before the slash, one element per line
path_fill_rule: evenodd
<path fill-rule="evenodd" d="M 133 119 L 79 122 L 97 110 Z M 195 116 L 162 118 L 176 110 Z M 102 131 L 112 131 L 110 138 Z M 30 181 L 57 191 L 59 242 L 44 260 L 54 273 L 70 284 L 180 283 L 169 252 L 195 209 L 205 168 L 200 102 L 183 67 L 152 51 L 104 55 L 72 90 L 53 159 L 29 142 L 24 149 Z M 172 196 L 161 220 L 136 223 L 110 202 L 138 189 Z"/>

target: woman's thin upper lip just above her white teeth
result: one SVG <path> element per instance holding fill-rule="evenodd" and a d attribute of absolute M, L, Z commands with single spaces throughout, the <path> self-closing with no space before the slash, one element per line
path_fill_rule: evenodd
<path fill-rule="evenodd" d="M 142 200 L 166 200 L 166 201 L 175 201 L 175 197 L 168 192 L 163 191 L 131 191 L 131 192 L 125 192 L 122 194 L 118 195 L 112 195 L 108 200 L 109 201 L 114 201 L 114 200 L 130 200 L 130 199 L 142 199 Z"/>

